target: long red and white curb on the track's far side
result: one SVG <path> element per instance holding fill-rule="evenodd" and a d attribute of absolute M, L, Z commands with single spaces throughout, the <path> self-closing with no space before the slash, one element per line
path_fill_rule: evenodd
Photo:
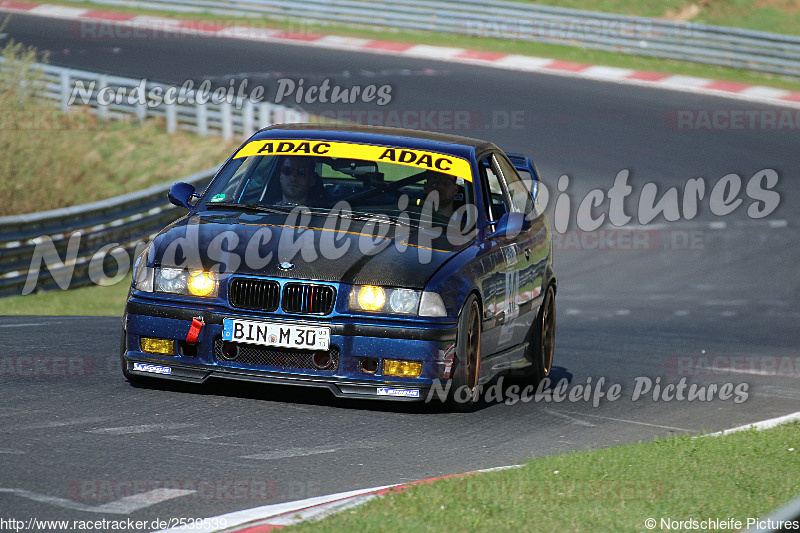
<path fill-rule="evenodd" d="M 195 35 L 202 38 L 218 37 L 268 43 L 295 44 L 333 50 L 370 52 L 466 63 L 521 72 L 537 72 L 626 85 L 657 87 L 672 91 L 707 94 L 737 100 L 800 108 L 800 92 L 792 92 L 773 87 L 748 85 L 732 81 L 692 76 L 637 71 L 617 67 L 587 65 L 516 54 L 467 50 L 464 48 L 271 30 L 246 25 L 237 26 L 225 24 L 222 17 L 218 22 L 191 19 L 184 20 L 149 15 L 131 15 L 71 6 L 17 2 L 15 0 L 0 1 L 0 11 L 82 21 L 84 24 L 79 24 L 76 26 L 75 30 L 79 38 L 85 39 L 102 39 L 114 36 L 141 39 L 143 35 L 137 36 L 136 32 L 156 32 L 153 34 L 154 38 L 165 38 L 180 34 Z M 104 29 L 102 27 L 92 26 L 90 24 L 92 22 L 108 23 L 109 26 L 113 24 L 113 27 L 116 29 L 109 30 L 108 28 Z M 128 31 L 127 33 L 120 32 L 119 28 L 128 28 L 134 31 Z M 146 35 L 144 36 L 146 37 Z"/>

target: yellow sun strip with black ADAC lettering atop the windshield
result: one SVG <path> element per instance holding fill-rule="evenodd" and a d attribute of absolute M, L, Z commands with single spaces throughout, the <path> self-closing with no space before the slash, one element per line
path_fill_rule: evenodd
<path fill-rule="evenodd" d="M 369 144 L 342 143 L 333 141 L 305 141 L 302 139 L 269 139 L 252 141 L 236 152 L 234 159 L 258 155 L 321 155 L 327 157 L 350 157 L 378 163 L 396 163 L 472 181 L 472 172 L 466 159 L 449 154 L 425 150 L 393 148 Z"/>

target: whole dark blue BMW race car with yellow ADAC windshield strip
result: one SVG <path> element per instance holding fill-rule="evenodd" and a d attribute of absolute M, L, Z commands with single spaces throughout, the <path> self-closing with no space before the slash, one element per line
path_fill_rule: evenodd
<path fill-rule="evenodd" d="M 523 179 L 523 176 L 525 177 Z M 259 131 L 138 258 L 130 381 L 225 378 L 467 410 L 553 364 L 556 278 L 532 161 L 393 128 Z"/>

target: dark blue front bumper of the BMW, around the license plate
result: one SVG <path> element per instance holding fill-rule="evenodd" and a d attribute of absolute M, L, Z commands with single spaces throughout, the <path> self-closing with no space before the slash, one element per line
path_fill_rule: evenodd
<path fill-rule="evenodd" d="M 196 343 L 186 343 L 193 318 L 201 318 L 203 327 Z M 242 318 L 294 325 L 331 328 L 331 352 L 336 365 L 314 368 L 297 363 L 293 353 L 286 359 L 232 361 L 222 357 L 224 318 Z M 255 381 L 261 383 L 327 388 L 337 397 L 423 401 L 430 389 L 449 379 L 457 324 L 423 320 L 359 321 L 352 317 L 316 319 L 307 316 L 280 316 L 214 309 L 132 296 L 124 319 L 122 364 L 130 375 L 203 383 L 209 378 Z M 156 355 L 141 350 L 140 337 L 172 339 L 171 355 Z M 270 353 L 281 350 L 268 350 Z M 291 352 L 290 349 L 284 351 Z M 422 363 L 416 378 L 382 375 L 384 359 Z M 286 361 L 294 361 L 286 362 Z M 367 371 L 365 364 L 373 366 Z"/>

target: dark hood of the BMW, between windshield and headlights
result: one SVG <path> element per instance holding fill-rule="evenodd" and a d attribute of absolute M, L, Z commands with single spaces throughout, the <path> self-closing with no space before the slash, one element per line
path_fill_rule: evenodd
<path fill-rule="evenodd" d="M 186 216 L 166 227 L 153 239 L 148 263 L 422 289 L 471 242 L 435 226 L 224 211 Z"/>

